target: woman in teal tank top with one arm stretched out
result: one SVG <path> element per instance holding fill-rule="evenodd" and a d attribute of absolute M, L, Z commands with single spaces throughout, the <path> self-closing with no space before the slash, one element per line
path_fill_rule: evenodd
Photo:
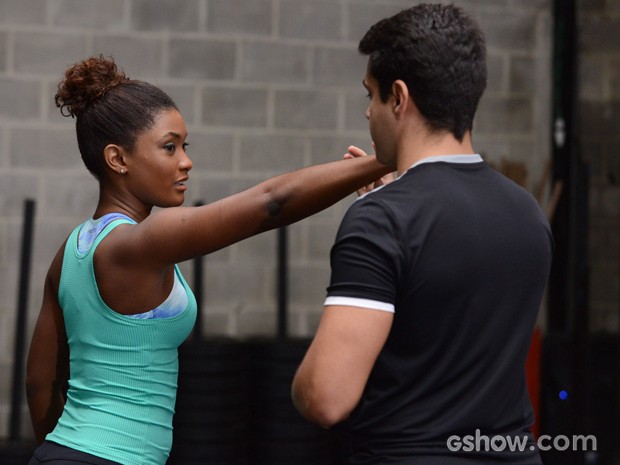
<path fill-rule="evenodd" d="M 30 464 L 163 464 L 177 348 L 196 316 L 175 264 L 316 213 L 389 169 L 360 156 L 181 207 L 192 162 L 170 97 L 93 57 L 67 70 L 55 99 L 76 118 L 99 201 L 46 277 L 28 355 L 28 403 L 42 442 Z"/>

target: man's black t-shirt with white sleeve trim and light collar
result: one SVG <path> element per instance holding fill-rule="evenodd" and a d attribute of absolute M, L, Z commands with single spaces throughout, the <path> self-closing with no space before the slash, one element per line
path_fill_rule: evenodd
<path fill-rule="evenodd" d="M 326 305 L 394 311 L 348 422 L 349 464 L 541 463 L 525 359 L 550 228 L 523 188 L 460 159 L 414 166 L 340 226 Z"/>

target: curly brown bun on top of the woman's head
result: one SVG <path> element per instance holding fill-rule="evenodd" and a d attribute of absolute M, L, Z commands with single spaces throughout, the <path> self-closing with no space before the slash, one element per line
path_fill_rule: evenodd
<path fill-rule="evenodd" d="M 129 78 L 119 71 L 114 59 L 103 55 L 88 58 L 69 67 L 58 84 L 54 100 L 63 116 L 78 116 L 106 92 Z"/>

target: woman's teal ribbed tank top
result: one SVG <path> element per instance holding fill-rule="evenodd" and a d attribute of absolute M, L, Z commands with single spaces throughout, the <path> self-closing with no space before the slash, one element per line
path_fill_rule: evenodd
<path fill-rule="evenodd" d="M 172 447 L 179 345 L 196 321 L 196 299 L 177 266 L 187 307 L 169 318 L 131 318 L 101 298 L 93 256 L 78 250 L 78 226 L 64 251 L 58 300 L 69 342 L 67 402 L 46 439 L 123 465 L 163 465 Z M 131 292 L 128 288 L 126 292 Z"/>

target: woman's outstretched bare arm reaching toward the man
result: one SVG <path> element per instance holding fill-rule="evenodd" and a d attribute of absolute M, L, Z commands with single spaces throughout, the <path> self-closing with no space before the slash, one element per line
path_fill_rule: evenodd
<path fill-rule="evenodd" d="M 179 263 L 301 220 L 389 172 L 374 156 L 301 168 L 209 205 L 158 211 L 128 228 L 117 251 L 133 263 Z"/>

